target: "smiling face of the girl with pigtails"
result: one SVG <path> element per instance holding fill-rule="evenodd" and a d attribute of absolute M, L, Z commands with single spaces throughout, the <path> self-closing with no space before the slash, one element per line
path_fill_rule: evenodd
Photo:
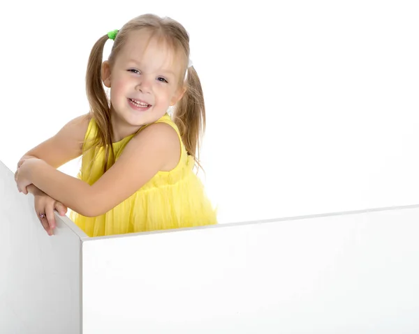
<path fill-rule="evenodd" d="M 166 43 L 151 38 L 147 30 L 133 31 L 110 68 L 102 66 L 105 86 L 110 87 L 115 140 L 161 118 L 182 98 L 179 87 L 181 62 Z"/>

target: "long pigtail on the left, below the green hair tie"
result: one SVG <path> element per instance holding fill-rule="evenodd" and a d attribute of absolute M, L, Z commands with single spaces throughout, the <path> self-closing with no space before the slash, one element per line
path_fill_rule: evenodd
<path fill-rule="evenodd" d="M 98 125 L 97 137 L 87 149 L 91 149 L 93 146 L 105 147 L 105 164 L 103 166 L 103 172 L 106 172 L 108 169 L 110 154 L 112 154 L 111 161 L 113 161 L 115 157 L 112 146 L 110 104 L 105 89 L 103 89 L 101 75 L 103 47 L 108 39 L 108 35 L 99 38 L 91 49 L 86 73 L 86 93 L 87 99 L 89 100 L 90 113 Z"/>

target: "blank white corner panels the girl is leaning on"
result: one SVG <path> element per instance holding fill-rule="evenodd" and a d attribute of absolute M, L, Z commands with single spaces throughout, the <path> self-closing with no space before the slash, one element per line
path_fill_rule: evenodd
<path fill-rule="evenodd" d="M 0 333 L 419 333 L 419 206 L 50 237 L 0 185 Z"/>

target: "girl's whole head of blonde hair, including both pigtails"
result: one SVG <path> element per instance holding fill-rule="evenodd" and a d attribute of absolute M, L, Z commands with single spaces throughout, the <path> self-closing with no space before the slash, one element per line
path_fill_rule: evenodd
<path fill-rule="evenodd" d="M 147 29 L 162 38 L 173 51 L 181 56 L 182 66 L 179 76 L 179 86 L 184 86 L 186 92 L 174 107 L 172 119 L 179 128 L 182 142 L 189 155 L 193 156 L 196 165 L 200 167 L 199 154 L 200 143 L 205 132 L 205 104 L 203 89 L 200 79 L 193 66 L 188 68 L 189 63 L 189 34 L 184 26 L 170 17 L 159 17 L 153 14 L 140 15 L 128 21 L 120 29 L 115 38 L 108 61 L 112 68 L 118 52 L 131 31 Z M 115 153 L 112 147 L 112 124 L 110 122 L 111 106 L 106 96 L 101 77 L 103 61 L 103 47 L 109 39 L 108 35 L 102 36 L 94 44 L 87 64 L 86 92 L 90 105 L 90 114 L 98 127 L 98 133 L 94 141 L 87 146 L 88 149 L 96 147 L 105 148 L 105 162 L 103 172 L 106 172 L 115 163 Z M 187 75 L 186 75 L 187 70 Z M 184 80 L 186 75 L 186 79 Z"/>

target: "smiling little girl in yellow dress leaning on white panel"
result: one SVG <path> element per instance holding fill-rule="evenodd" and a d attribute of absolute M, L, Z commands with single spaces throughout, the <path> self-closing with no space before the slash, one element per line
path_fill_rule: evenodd
<path fill-rule="evenodd" d="M 109 38 L 112 51 L 102 62 Z M 193 173 L 205 106 L 184 27 L 168 17 L 135 17 L 96 42 L 86 82 L 90 112 L 17 165 L 17 188 L 34 194 L 48 234 L 54 208 L 64 215 L 67 207 L 88 236 L 216 224 Z M 57 170 L 80 155 L 78 178 Z"/>

